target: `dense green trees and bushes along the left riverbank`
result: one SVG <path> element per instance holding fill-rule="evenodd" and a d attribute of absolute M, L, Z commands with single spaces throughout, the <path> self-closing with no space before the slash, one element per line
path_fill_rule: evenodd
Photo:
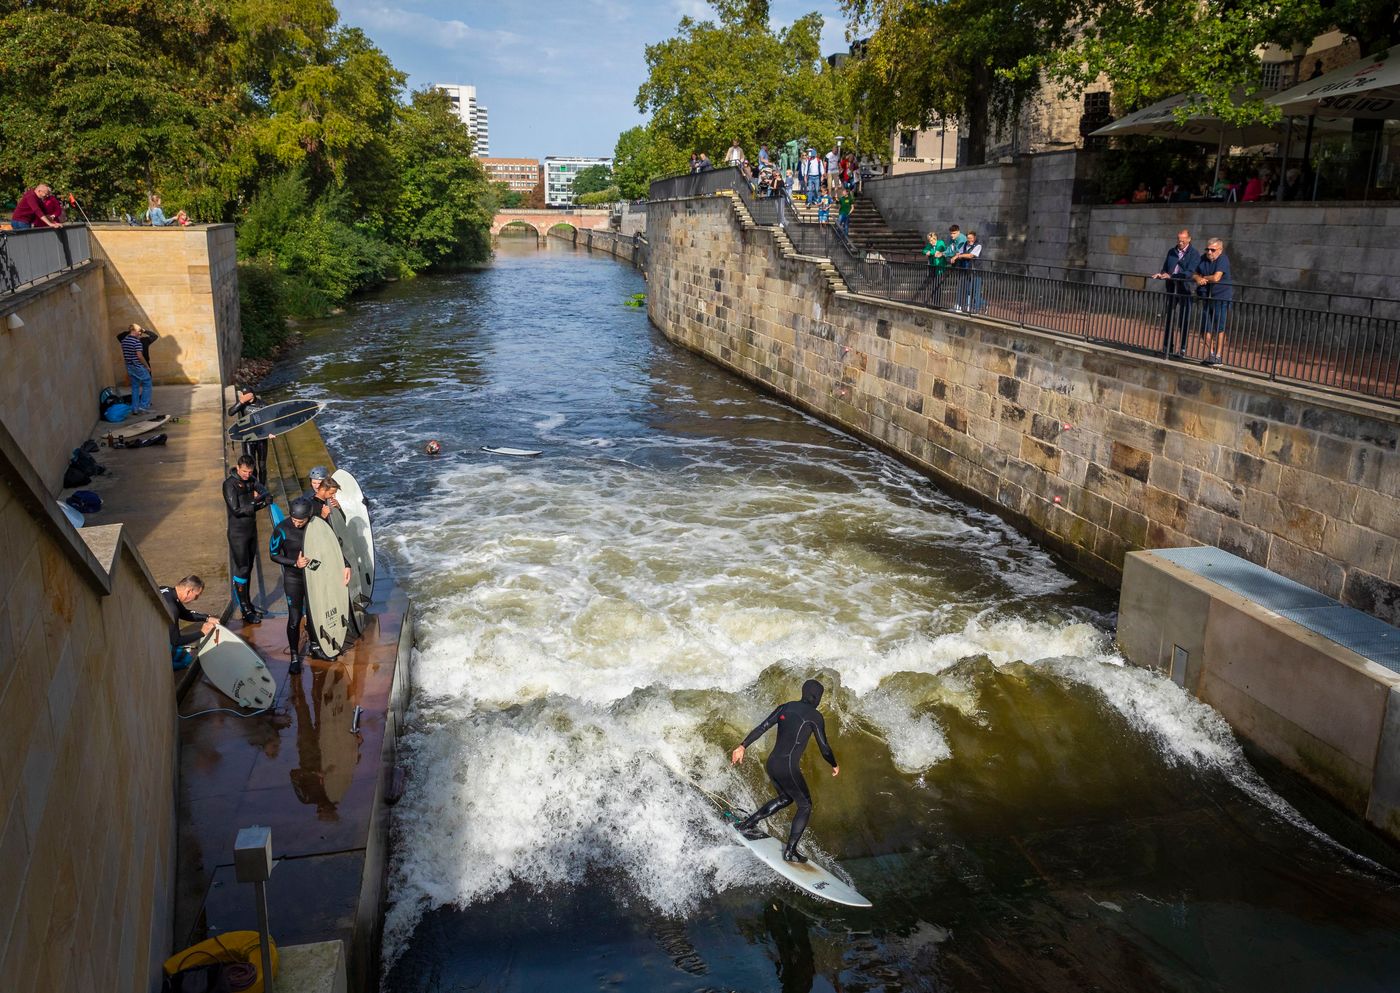
<path fill-rule="evenodd" d="M 88 216 L 238 224 L 246 349 L 283 317 L 484 259 L 497 192 L 437 91 L 332 0 L 6 4 L 0 183 L 73 193 Z"/>

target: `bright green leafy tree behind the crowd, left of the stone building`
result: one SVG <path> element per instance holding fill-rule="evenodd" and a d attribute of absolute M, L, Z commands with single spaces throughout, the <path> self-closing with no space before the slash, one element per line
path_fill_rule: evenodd
<path fill-rule="evenodd" d="M 822 57 L 822 17 L 806 14 L 781 31 L 766 0 L 711 0 L 717 20 L 680 18 L 675 38 L 647 46 L 647 81 L 637 109 L 659 158 L 671 150 L 722 155 L 732 139 L 755 157 L 805 137 L 826 147 L 848 133 L 837 120 L 836 70 Z M 637 182 L 633 178 L 633 185 Z"/>

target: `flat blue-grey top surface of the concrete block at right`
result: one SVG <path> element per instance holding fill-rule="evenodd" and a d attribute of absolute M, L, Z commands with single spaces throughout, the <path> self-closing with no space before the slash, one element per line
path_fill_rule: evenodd
<path fill-rule="evenodd" d="M 1218 548 L 1152 549 L 1168 562 L 1217 583 L 1295 625 L 1400 672 L 1400 627 Z"/>

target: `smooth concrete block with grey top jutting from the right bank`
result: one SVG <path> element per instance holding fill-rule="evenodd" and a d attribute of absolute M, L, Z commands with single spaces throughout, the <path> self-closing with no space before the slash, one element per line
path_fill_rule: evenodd
<path fill-rule="evenodd" d="M 1400 630 L 1214 548 L 1131 552 L 1123 655 L 1400 843 Z"/>

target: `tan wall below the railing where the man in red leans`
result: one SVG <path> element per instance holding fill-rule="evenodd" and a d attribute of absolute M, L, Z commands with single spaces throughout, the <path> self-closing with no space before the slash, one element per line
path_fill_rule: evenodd
<path fill-rule="evenodd" d="M 113 382 L 106 349 L 116 342 L 102 340 L 111 326 L 104 277 L 94 263 L 0 301 L 0 318 L 24 321 L 10 331 L 0 319 L 0 423 L 50 493 L 92 430 L 98 392 Z M 120 384 L 125 389 L 125 373 Z"/>

